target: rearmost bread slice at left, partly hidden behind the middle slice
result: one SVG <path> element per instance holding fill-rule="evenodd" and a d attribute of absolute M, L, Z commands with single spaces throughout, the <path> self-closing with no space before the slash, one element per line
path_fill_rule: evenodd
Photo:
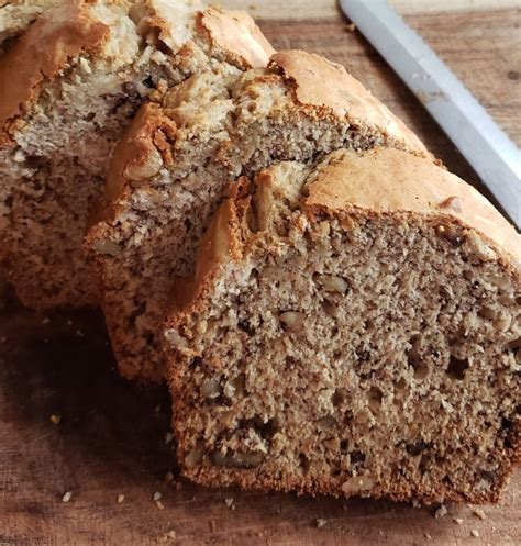
<path fill-rule="evenodd" d="M 188 0 L 64 1 L 20 35 L 0 58 L 0 235 L 24 304 L 97 304 L 88 211 L 151 91 L 271 53 L 245 13 Z"/>

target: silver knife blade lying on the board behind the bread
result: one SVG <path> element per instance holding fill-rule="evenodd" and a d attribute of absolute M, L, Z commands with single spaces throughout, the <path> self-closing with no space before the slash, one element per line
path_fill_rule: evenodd
<path fill-rule="evenodd" d="M 386 0 L 340 0 L 342 10 L 421 100 L 521 229 L 521 153 L 440 57 Z"/>

